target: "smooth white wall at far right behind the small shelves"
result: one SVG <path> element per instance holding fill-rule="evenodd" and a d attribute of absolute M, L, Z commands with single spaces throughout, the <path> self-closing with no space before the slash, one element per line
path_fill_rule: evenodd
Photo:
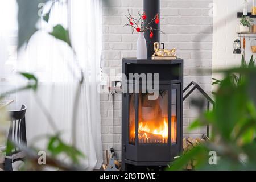
<path fill-rule="evenodd" d="M 234 40 L 238 39 L 240 18 L 237 12 L 243 11 L 243 0 L 213 0 L 216 13 L 213 17 L 213 69 L 229 68 L 241 65 L 242 55 L 233 54 Z M 251 11 L 253 1 L 248 1 L 248 11 Z M 256 19 L 255 24 L 256 24 Z M 251 39 L 252 40 L 252 39 Z M 250 48 L 249 38 L 246 38 L 246 60 L 249 61 L 253 54 Z M 243 38 L 242 38 L 243 41 Z M 255 57 L 255 54 L 254 54 Z M 213 74 L 213 77 L 220 75 Z"/>

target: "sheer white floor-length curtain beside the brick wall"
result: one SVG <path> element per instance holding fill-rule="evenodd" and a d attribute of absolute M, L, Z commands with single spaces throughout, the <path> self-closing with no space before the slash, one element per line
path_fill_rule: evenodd
<path fill-rule="evenodd" d="M 44 150 L 46 140 L 38 140 L 38 136 L 56 132 L 48 122 L 47 114 L 57 131 L 61 132 L 61 138 L 71 143 L 73 101 L 81 67 L 85 82 L 80 90 L 80 100 L 76 103 L 76 144 L 86 156 L 80 159 L 84 169 L 99 169 L 103 162 L 100 94 L 97 92 L 102 47 L 101 0 L 63 2 L 55 3 L 52 8 L 49 18 L 51 26 L 41 20 L 38 23 L 41 31 L 32 36 L 26 51 L 19 55 L 18 71 L 35 73 L 39 78 L 39 88 L 36 94 L 32 91 L 17 94 L 16 104 L 24 103 L 28 108 L 29 145 L 35 144 Z M 49 28 L 56 24 L 69 28 L 76 56 L 67 44 L 48 35 Z"/>

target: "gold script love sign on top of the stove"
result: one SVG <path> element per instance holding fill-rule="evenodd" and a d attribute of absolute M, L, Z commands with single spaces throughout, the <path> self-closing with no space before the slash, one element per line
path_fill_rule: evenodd
<path fill-rule="evenodd" d="M 176 49 L 159 49 L 159 43 L 154 43 L 154 50 L 155 53 L 152 55 L 152 59 L 154 60 L 170 60 L 170 59 L 177 59 L 176 56 Z"/>

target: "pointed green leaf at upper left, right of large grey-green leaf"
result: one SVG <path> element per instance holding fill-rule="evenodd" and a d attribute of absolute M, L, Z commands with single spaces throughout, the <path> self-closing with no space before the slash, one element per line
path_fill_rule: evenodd
<path fill-rule="evenodd" d="M 65 30 L 65 28 L 60 24 L 53 27 L 53 31 L 49 34 L 54 36 L 56 39 L 66 42 L 70 47 L 72 47 L 68 30 Z"/>

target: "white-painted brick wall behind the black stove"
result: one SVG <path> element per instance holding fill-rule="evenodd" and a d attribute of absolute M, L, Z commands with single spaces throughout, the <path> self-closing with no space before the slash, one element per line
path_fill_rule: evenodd
<path fill-rule="evenodd" d="M 142 0 L 110 0 L 111 7 L 103 7 L 104 26 L 104 69 L 110 68 L 121 72 L 122 57 L 136 56 L 136 42 L 138 34 L 131 34 L 130 27 L 123 27 L 127 23 L 124 15 L 127 9 L 137 15 L 142 11 Z M 161 35 L 161 41 L 168 48 L 177 48 L 177 56 L 184 59 L 184 86 L 191 81 L 199 83 L 208 93 L 211 91 L 211 73 L 202 74 L 197 69 L 212 68 L 212 18 L 209 17 L 209 4 L 212 1 L 163 1 L 161 0 L 160 28 L 166 34 Z M 198 94 L 195 94 L 197 96 Z M 121 95 L 115 96 L 114 102 L 114 149 L 118 157 L 121 156 Z M 188 133 L 189 123 L 197 117 L 197 110 L 184 102 L 184 136 L 199 136 L 205 133 L 200 129 Z M 112 96 L 101 96 L 102 141 L 104 150 L 112 147 Z M 105 155 L 104 155 L 105 158 Z M 120 158 L 119 158 L 120 159 Z"/>

